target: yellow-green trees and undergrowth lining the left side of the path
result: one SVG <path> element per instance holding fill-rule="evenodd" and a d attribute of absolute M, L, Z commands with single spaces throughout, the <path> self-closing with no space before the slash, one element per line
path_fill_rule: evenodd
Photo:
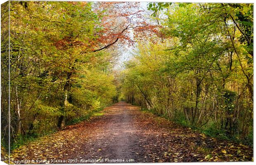
<path fill-rule="evenodd" d="M 10 8 L 15 148 L 111 104 L 116 85 L 111 52 L 93 52 L 100 46 L 104 13 L 91 2 L 13 1 Z"/>

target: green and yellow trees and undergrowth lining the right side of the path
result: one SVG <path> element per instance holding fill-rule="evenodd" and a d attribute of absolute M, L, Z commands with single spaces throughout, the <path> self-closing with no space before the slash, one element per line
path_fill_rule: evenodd
<path fill-rule="evenodd" d="M 139 43 L 126 63 L 126 101 L 213 137 L 250 137 L 252 5 L 174 3 L 163 10 L 164 4 L 149 3 L 166 15 L 164 37 Z"/>

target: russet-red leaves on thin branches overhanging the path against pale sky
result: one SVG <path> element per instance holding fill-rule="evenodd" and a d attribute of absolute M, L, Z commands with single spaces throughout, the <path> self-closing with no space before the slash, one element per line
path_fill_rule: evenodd
<path fill-rule="evenodd" d="M 99 2 L 98 4 L 97 12 L 105 10 L 101 19 L 103 30 L 97 40 L 101 45 L 109 44 L 116 39 L 121 43 L 133 45 L 134 38 L 159 33 L 157 26 L 143 19 L 139 2 Z M 131 34 L 130 30 L 135 34 Z"/>

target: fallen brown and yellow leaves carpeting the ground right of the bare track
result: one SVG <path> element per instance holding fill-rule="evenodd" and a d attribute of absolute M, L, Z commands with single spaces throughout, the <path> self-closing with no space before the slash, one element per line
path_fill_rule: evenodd
<path fill-rule="evenodd" d="M 207 137 L 150 113 L 141 121 L 145 129 L 151 127 L 144 147 L 153 162 L 253 161 L 249 146 Z"/>

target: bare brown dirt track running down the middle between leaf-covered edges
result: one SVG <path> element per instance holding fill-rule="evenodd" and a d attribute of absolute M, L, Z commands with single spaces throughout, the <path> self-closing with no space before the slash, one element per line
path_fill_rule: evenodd
<path fill-rule="evenodd" d="M 88 138 L 90 142 L 86 146 L 87 152 L 83 158 L 102 160 L 108 158 L 109 161 L 134 159 L 137 162 L 139 156 L 136 152 L 143 151 L 143 148 L 138 147 L 140 137 L 137 134 L 137 125 L 134 124 L 137 111 L 129 104 L 119 102 L 105 108 L 104 113 L 106 114 L 99 119 L 102 122 L 97 125 L 95 134 L 91 134 Z"/>

